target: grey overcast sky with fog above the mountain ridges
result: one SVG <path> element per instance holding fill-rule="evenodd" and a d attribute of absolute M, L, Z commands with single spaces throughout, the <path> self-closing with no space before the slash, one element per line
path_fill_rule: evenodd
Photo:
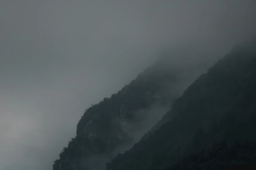
<path fill-rule="evenodd" d="M 0 169 L 50 170 L 84 110 L 163 47 L 228 51 L 255 34 L 255 11 L 255 0 L 0 0 Z"/>

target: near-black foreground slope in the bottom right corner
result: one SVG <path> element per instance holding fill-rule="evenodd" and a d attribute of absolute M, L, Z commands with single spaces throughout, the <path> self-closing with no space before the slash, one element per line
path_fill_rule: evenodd
<path fill-rule="evenodd" d="M 256 143 L 235 141 L 228 146 L 225 141 L 216 143 L 201 152 L 191 154 L 168 170 L 255 170 Z"/>

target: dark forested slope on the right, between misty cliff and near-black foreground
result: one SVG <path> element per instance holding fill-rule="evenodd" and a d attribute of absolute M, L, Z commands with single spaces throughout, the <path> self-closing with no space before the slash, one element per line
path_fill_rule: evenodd
<path fill-rule="evenodd" d="M 256 140 L 256 39 L 240 44 L 175 100 L 172 119 L 119 154 L 107 170 L 166 169 L 225 139 Z"/>

